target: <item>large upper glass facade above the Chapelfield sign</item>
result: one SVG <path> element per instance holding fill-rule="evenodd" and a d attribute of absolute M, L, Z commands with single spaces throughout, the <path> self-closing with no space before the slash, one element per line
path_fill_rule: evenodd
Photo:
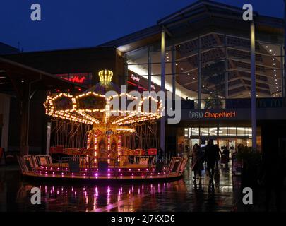
<path fill-rule="evenodd" d="M 179 40 L 179 39 L 177 39 Z M 126 53 L 126 66 L 160 85 L 160 43 Z M 282 97 L 282 43 L 256 37 L 256 95 Z M 198 100 L 201 108 L 221 108 L 225 99 L 251 97 L 250 40 L 210 32 L 200 37 L 167 40 L 165 55 L 166 89 L 181 97 Z M 149 77 L 148 77 L 149 75 Z M 196 101 L 198 103 L 198 101 Z M 199 108 L 200 106 L 198 106 Z"/>

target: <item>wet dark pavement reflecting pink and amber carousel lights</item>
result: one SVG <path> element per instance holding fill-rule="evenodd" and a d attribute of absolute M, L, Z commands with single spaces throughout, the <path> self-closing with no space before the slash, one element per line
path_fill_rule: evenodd
<path fill-rule="evenodd" d="M 239 200 L 239 177 L 220 171 L 214 190 L 208 177 L 193 183 L 191 169 L 177 181 L 82 182 L 31 181 L 16 167 L 0 169 L 0 211 L 233 211 Z M 40 187 L 42 203 L 30 203 L 30 190 Z"/>

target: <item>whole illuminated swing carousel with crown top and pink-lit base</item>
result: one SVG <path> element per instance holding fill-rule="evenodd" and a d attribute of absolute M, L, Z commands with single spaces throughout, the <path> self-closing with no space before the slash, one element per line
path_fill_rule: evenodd
<path fill-rule="evenodd" d="M 157 159 L 157 119 L 162 102 L 118 94 L 112 71 L 80 95 L 49 95 L 53 117 L 49 155 L 18 157 L 22 174 L 62 179 L 167 179 L 180 177 L 186 159 Z M 147 108 L 147 109 L 146 109 Z"/>

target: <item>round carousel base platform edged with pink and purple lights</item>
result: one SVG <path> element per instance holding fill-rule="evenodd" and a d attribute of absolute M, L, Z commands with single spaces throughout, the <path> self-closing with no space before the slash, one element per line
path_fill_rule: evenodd
<path fill-rule="evenodd" d="M 78 160 L 52 162 L 49 155 L 25 155 L 18 157 L 20 170 L 25 177 L 41 179 L 69 180 L 153 180 L 176 179 L 182 176 L 187 159 L 172 157 L 168 163 L 152 165 L 129 164 L 109 165 L 98 160 L 97 164 L 87 164 Z"/>

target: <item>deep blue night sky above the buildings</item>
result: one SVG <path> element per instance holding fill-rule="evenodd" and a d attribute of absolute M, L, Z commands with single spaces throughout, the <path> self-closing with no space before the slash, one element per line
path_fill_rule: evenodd
<path fill-rule="evenodd" d="M 282 18 L 283 0 L 217 0 L 254 6 L 261 15 Z M 128 35 L 196 0 L 1 0 L 0 42 L 24 52 L 94 47 Z M 42 7 L 42 21 L 30 20 L 30 6 Z"/>

